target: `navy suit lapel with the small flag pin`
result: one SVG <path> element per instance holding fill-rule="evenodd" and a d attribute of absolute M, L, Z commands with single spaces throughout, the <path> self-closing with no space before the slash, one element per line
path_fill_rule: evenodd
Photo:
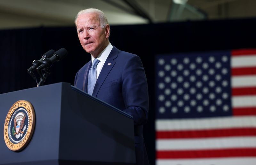
<path fill-rule="evenodd" d="M 106 77 L 108 76 L 110 70 L 114 67 L 116 61 L 114 61 L 114 59 L 117 57 L 118 55 L 118 49 L 113 46 L 113 49 L 111 50 L 111 52 L 108 55 L 107 60 L 105 61 L 101 71 L 100 71 L 100 75 L 96 81 L 96 84 L 94 86 L 94 90 L 92 92 L 92 96 L 96 97 L 101 85 L 103 84 L 103 82 L 105 81 Z M 110 63 L 110 65 L 108 65 L 108 63 Z M 87 81 L 88 81 L 88 74 L 87 74 Z"/>

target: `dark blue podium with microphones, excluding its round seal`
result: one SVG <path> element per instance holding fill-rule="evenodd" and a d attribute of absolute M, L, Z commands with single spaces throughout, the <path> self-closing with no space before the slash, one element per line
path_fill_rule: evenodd
<path fill-rule="evenodd" d="M 1 129 L 18 100 L 27 100 L 34 107 L 34 133 L 19 152 L 10 150 L 0 133 L 1 165 L 135 164 L 133 119 L 129 114 L 69 83 L 56 83 L 1 94 Z"/>

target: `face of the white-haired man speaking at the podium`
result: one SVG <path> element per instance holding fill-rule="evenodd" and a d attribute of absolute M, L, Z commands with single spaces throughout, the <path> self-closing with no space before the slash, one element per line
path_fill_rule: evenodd
<path fill-rule="evenodd" d="M 94 58 L 108 45 L 109 25 L 101 28 L 98 14 L 85 13 L 78 16 L 76 29 L 82 47 Z"/>

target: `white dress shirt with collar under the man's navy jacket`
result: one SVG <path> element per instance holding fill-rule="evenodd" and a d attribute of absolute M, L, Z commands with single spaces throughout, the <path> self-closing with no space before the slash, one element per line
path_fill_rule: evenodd
<path fill-rule="evenodd" d="M 110 51 L 112 50 L 113 46 L 111 45 L 111 43 L 108 44 L 108 46 L 99 54 L 99 56 L 97 57 L 98 60 L 100 60 L 100 62 L 98 63 L 97 67 L 96 67 L 96 72 L 97 72 L 97 79 L 100 75 L 100 71 L 105 63 L 105 61 L 108 58 L 108 55 L 110 53 Z M 92 62 L 94 60 L 94 57 L 92 57 Z"/>

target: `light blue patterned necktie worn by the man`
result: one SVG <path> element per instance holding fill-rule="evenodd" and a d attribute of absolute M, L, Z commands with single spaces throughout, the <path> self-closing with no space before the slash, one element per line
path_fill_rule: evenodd
<path fill-rule="evenodd" d="M 100 60 L 94 59 L 92 62 L 92 67 L 89 70 L 89 75 L 88 75 L 88 85 L 87 85 L 87 90 L 88 94 L 92 95 L 96 80 L 97 80 L 97 74 L 96 74 L 96 67 Z"/>

